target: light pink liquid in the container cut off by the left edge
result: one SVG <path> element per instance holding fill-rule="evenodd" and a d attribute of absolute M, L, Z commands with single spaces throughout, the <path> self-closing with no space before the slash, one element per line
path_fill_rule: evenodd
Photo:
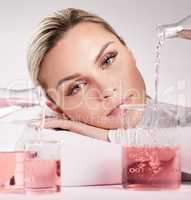
<path fill-rule="evenodd" d="M 0 152 L 0 192 L 24 192 L 24 160 L 31 152 Z"/>

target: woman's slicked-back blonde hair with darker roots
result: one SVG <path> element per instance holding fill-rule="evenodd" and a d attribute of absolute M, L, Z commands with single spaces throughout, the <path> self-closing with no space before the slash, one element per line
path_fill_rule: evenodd
<path fill-rule="evenodd" d="M 41 63 L 45 55 L 53 48 L 64 33 L 81 22 L 101 24 L 107 31 L 113 33 L 122 44 L 124 40 L 115 32 L 103 18 L 84 10 L 67 8 L 54 12 L 44 18 L 33 34 L 27 54 L 27 64 L 30 77 L 35 85 L 42 85 L 39 80 Z"/>

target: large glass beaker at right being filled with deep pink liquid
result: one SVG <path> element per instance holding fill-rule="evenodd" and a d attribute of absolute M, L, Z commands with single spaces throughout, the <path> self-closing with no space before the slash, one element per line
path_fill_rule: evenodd
<path fill-rule="evenodd" d="M 122 105 L 124 188 L 167 189 L 181 183 L 178 127 L 157 107 Z"/>

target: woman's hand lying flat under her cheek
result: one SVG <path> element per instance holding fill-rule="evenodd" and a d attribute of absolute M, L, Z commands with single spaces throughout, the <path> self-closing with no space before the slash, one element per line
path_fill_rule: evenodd
<path fill-rule="evenodd" d="M 82 122 L 68 119 L 51 117 L 45 119 L 45 128 L 59 128 L 79 133 L 80 135 L 93 137 L 99 140 L 108 141 L 108 130 L 97 128 Z"/>

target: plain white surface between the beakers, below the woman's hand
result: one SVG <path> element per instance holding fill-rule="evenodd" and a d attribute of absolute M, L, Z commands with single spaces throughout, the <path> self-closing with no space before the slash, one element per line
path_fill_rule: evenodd
<path fill-rule="evenodd" d="M 66 134 L 64 138 L 63 185 L 121 183 L 119 145 L 79 135 Z"/>

